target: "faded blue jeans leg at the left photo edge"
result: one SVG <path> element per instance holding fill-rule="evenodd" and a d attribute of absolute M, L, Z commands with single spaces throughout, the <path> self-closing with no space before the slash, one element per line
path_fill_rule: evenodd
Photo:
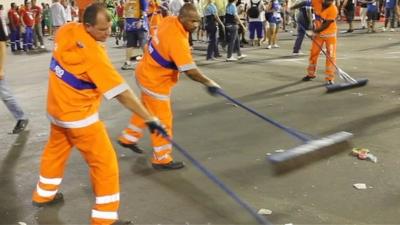
<path fill-rule="evenodd" d="M 7 87 L 4 78 L 0 80 L 0 98 L 1 100 L 3 100 L 4 104 L 7 106 L 8 110 L 11 112 L 16 120 L 26 119 L 24 111 L 22 111 L 17 100 L 12 95 L 10 89 Z"/>

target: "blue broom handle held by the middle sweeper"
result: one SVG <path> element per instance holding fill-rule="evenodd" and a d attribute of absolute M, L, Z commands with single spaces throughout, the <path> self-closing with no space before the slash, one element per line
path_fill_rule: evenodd
<path fill-rule="evenodd" d="M 274 126 L 280 128 L 280 129 L 284 130 L 285 132 L 287 132 L 287 133 L 289 133 L 290 135 L 292 135 L 292 136 L 294 136 L 294 137 L 300 139 L 300 140 L 303 141 L 303 142 L 307 142 L 307 141 L 312 140 L 310 137 L 307 137 L 306 135 L 304 135 L 304 134 L 302 134 L 302 133 L 300 133 L 300 132 L 297 132 L 297 131 L 293 130 L 293 129 L 290 128 L 290 127 L 286 127 L 285 125 L 280 124 L 280 123 L 276 122 L 275 120 L 272 120 L 272 119 L 270 119 L 270 118 L 268 118 L 268 117 L 266 117 L 266 116 L 264 116 L 264 115 L 261 115 L 260 113 L 258 113 L 258 112 L 255 111 L 254 109 L 243 105 L 243 104 L 242 104 L 241 102 L 239 102 L 238 100 L 235 100 L 235 99 L 231 98 L 230 96 L 228 96 L 227 94 L 225 94 L 221 89 L 218 89 L 218 90 L 217 90 L 217 94 L 223 96 L 223 97 L 226 98 L 227 100 L 229 100 L 229 101 L 235 103 L 236 105 L 242 107 L 243 109 L 249 111 L 250 113 L 252 113 L 252 114 L 258 116 L 259 118 L 263 119 L 264 121 L 266 121 L 266 122 L 268 122 L 268 123 L 271 123 L 272 125 L 274 125 Z"/>

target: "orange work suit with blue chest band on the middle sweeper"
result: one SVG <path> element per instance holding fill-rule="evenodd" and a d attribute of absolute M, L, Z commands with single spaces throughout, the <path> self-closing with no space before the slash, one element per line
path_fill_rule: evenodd
<path fill-rule="evenodd" d="M 172 110 L 170 95 L 178 82 L 179 72 L 196 68 L 189 48 L 188 32 L 175 16 L 165 17 L 158 32 L 145 47 L 143 59 L 136 68 L 136 81 L 141 90 L 141 100 L 146 108 L 166 126 L 172 137 Z M 145 124 L 133 115 L 129 126 L 119 140 L 125 144 L 136 143 L 143 136 Z M 172 161 L 172 146 L 164 138 L 151 135 L 154 164 Z"/>

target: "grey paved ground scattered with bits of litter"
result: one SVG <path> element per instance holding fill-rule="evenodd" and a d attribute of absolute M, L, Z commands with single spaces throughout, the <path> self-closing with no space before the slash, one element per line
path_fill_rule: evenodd
<path fill-rule="evenodd" d="M 352 132 L 349 143 L 277 173 L 266 154 L 299 143 L 224 99 L 209 96 L 184 75 L 173 94 L 176 142 L 254 208 L 272 210 L 268 219 L 274 224 L 400 224 L 399 33 L 341 34 L 338 64 L 354 77 L 368 78 L 369 84 L 334 94 L 325 93 L 322 76 L 299 82 L 307 56 L 289 56 L 293 40 L 291 34 L 281 33 L 279 49 L 245 48 L 248 58 L 238 63 L 205 61 L 204 44 L 194 54 L 206 74 L 246 105 L 315 136 Z M 111 41 L 109 45 L 119 68 L 123 50 L 112 47 Z M 304 52 L 309 46 L 305 41 Z M 61 188 L 65 204 L 42 210 L 31 206 L 49 130 L 45 117 L 49 59 L 50 54 L 8 57 L 6 76 L 29 113 L 30 124 L 20 135 L 7 134 L 14 121 L 0 107 L 1 224 L 89 221 L 93 196 L 87 166 L 77 151 L 71 155 Z M 133 86 L 131 71 L 121 74 Z M 129 116 L 117 101 L 104 102 L 101 118 L 113 140 Z M 154 171 L 148 161 L 148 138 L 141 145 L 148 149 L 144 156 L 115 145 L 121 170 L 121 218 L 137 224 L 256 223 L 192 164 L 175 172 Z M 370 149 L 378 163 L 349 155 L 352 146 Z M 177 151 L 175 158 L 185 160 Z M 368 189 L 356 190 L 354 183 L 366 183 Z"/>

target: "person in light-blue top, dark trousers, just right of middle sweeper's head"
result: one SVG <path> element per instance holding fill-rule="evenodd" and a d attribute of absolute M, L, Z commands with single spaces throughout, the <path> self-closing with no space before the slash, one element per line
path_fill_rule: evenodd
<path fill-rule="evenodd" d="M 206 23 L 206 31 L 208 36 L 208 47 L 207 47 L 207 60 L 215 60 L 220 57 L 218 51 L 218 40 L 217 40 L 217 22 L 220 26 L 225 29 L 224 24 L 218 17 L 217 7 L 213 0 L 208 0 L 207 5 L 204 9 L 204 17 Z"/>

